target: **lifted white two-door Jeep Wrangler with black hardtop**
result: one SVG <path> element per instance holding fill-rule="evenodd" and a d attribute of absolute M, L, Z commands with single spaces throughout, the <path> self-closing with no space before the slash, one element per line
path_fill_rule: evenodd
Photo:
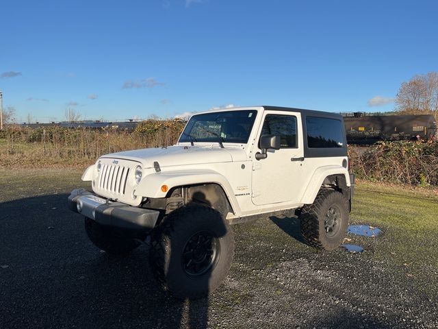
<path fill-rule="evenodd" d="M 176 145 L 101 156 L 69 208 L 94 245 L 125 254 L 151 236 L 151 265 L 177 297 L 226 278 L 230 224 L 298 215 L 305 241 L 335 249 L 348 226 L 354 175 L 339 114 L 255 106 L 193 115 Z"/>

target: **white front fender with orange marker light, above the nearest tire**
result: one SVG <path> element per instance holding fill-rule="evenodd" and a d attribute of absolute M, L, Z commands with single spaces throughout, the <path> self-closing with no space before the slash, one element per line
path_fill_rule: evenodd
<path fill-rule="evenodd" d="M 175 186 L 208 183 L 215 183 L 222 186 L 225 195 L 227 195 L 229 199 L 231 208 L 233 208 L 236 215 L 240 215 L 241 210 L 239 204 L 237 203 L 233 188 L 231 188 L 227 178 L 217 171 L 209 169 L 162 171 L 146 175 L 136 187 L 135 195 L 140 197 L 166 197 L 167 193 L 162 191 L 163 185 L 167 185 L 170 190 L 170 188 Z"/>

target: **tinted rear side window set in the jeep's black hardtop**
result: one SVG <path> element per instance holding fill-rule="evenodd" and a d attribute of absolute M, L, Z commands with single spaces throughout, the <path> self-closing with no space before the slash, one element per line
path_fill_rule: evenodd
<path fill-rule="evenodd" d="M 307 117 L 307 146 L 344 147 L 342 122 L 337 119 Z"/>

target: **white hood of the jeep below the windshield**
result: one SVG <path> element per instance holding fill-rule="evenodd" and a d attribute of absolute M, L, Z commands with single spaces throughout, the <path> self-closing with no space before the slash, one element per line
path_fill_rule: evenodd
<path fill-rule="evenodd" d="M 101 158 L 125 159 L 141 162 L 144 168 L 152 168 L 157 161 L 160 167 L 183 166 L 187 164 L 218 163 L 246 160 L 243 149 L 198 147 L 198 146 L 170 146 L 167 148 L 134 149 L 113 154 L 106 154 Z"/>

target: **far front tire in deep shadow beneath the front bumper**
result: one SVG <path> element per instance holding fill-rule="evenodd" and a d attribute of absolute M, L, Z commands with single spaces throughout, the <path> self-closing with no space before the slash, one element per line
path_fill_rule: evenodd
<path fill-rule="evenodd" d="M 114 255 L 127 254 L 141 245 L 135 239 L 116 236 L 112 228 L 101 226 L 96 221 L 85 217 L 85 230 L 90 241 L 99 249 Z"/>

